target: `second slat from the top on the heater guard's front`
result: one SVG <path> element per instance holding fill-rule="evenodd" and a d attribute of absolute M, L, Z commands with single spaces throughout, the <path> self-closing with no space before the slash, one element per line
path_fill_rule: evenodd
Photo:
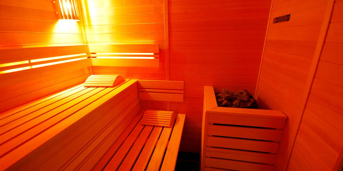
<path fill-rule="evenodd" d="M 280 141 L 282 130 L 209 125 L 208 135 Z"/>

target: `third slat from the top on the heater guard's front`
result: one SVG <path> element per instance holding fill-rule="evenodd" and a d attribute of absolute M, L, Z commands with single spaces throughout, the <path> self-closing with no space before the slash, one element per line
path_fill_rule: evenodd
<path fill-rule="evenodd" d="M 233 139 L 224 137 L 207 137 L 207 146 L 222 147 L 256 152 L 277 153 L 279 143 L 267 141 L 254 141 L 244 139 Z"/>

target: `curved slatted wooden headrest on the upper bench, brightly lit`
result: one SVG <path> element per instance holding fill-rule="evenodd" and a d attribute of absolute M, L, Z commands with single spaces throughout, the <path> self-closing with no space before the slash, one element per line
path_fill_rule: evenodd
<path fill-rule="evenodd" d="M 91 75 L 84 83 L 84 87 L 114 87 L 124 78 L 121 75 Z"/>

